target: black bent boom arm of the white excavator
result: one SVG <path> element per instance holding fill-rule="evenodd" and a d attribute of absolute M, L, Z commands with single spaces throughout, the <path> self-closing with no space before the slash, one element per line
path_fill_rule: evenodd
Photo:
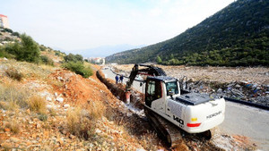
<path fill-rule="evenodd" d="M 139 66 L 146 67 L 146 68 L 139 69 Z M 146 64 L 134 64 L 134 67 L 132 68 L 131 74 L 129 76 L 129 80 L 126 83 L 126 91 L 130 90 L 135 80 L 135 77 L 138 74 L 148 75 L 148 76 L 166 76 L 165 71 L 163 71 L 159 67 L 155 67 L 153 65 L 146 65 Z"/>

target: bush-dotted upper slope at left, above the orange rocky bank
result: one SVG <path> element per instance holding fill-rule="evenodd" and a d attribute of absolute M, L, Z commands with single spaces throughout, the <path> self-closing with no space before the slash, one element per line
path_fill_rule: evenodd
<path fill-rule="evenodd" d="M 67 70 L 82 75 L 83 78 L 92 75 L 91 66 L 89 63 L 84 63 L 82 55 L 65 55 L 50 47 L 39 45 L 25 33 L 13 32 L 12 29 L 0 29 L 1 57 L 28 63 L 61 65 Z"/>

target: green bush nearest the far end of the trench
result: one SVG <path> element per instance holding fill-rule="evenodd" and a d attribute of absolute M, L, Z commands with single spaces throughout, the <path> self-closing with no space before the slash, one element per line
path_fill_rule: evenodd
<path fill-rule="evenodd" d="M 83 78 L 88 78 L 92 75 L 91 67 L 85 67 L 81 62 L 64 63 L 63 67 L 69 71 L 74 71 L 75 73 L 82 75 Z"/>

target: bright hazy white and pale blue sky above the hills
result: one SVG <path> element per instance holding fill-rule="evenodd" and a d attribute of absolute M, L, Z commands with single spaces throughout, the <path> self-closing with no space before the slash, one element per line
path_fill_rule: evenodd
<path fill-rule="evenodd" d="M 234 0 L 0 0 L 13 31 L 76 54 L 174 38 Z M 114 51 L 114 50 L 111 50 Z M 113 53 L 112 53 L 113 54 Z"/>

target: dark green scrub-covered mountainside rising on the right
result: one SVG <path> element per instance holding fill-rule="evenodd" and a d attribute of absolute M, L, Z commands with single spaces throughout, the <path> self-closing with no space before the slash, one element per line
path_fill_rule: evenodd
<path fill-rule="evenodd" d="M 175 38 L 109 55 L 108 63 L 269 65 L 269 2 L 238 0 Z"/>

